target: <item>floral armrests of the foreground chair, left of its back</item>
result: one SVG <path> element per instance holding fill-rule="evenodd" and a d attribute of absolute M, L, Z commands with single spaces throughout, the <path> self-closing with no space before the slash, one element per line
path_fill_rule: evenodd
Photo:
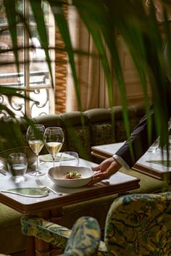
<path fill-rule="evenodd" d="M 99 248 L 99 223 L 92 217 L 81 217 L 72 231 L 38 217 L 21 218 L 22 233 L 35 236 L 64 249 L 66 256 L 93 256 Z"/>

